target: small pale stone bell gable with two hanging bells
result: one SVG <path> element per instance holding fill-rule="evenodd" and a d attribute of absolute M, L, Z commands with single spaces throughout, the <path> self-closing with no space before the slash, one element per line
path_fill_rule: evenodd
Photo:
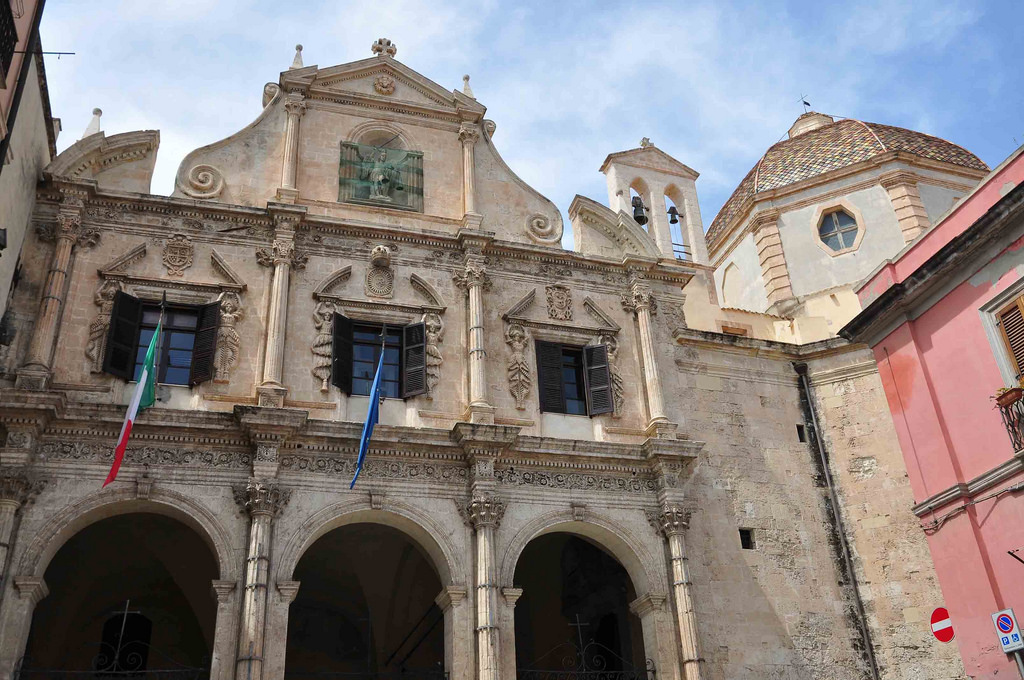
<path fill-rule="evenodd" d="M 708 263 L 693 168 L 644 137 L 637 148 L 604 159 L 601 172 L 608 183 L 608 206 L 636 219 L 663 257 Z"/>

